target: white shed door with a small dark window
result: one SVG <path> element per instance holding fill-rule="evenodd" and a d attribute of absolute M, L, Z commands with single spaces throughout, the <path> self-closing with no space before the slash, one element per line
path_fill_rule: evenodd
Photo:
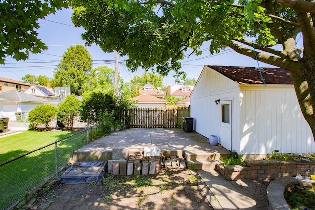
<path fill-rule="evenodd" d="M 221 145 L 232 150 L 232 101 L 221 101 Z"/>

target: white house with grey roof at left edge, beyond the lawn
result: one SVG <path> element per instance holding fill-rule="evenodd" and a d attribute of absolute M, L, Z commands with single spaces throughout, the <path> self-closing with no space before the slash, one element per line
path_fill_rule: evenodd
<path fill-rule="evenodd" d="M 16 120 L 15 113 L 27 113 L 36 106 L 48 104 L 49 101 L 17 90 L 0 93 L 0 113 L 3 117 Z"/>

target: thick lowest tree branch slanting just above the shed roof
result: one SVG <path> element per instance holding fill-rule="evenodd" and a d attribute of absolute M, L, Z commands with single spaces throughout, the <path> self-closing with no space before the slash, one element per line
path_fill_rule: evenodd
<path fill-rule="evenodd" d="M 256 59 L 255 57 L 255 52 L 251 49 L 248 49 L 246 47 L 242 47 L 236 43 L 230 42 L 230 43 L 225 43 L 227 46 L 235 50 L 235 52 L 240 53 L 242 55 L 248 56 L 252 59 Z M 275 65 L 280 68 L 286 69 L 290 72 L 294 72 L 296 74 L 299 73 L 299 68 L 300 64 L 297 61 L 292 61 L 292 60 L 287 60 L 287 59 L 282 59 L 276 56 L 271 56 L 262 52 L 257 52 L 257 59 L 261 62 L 270 64 L 270 65 Z"/>

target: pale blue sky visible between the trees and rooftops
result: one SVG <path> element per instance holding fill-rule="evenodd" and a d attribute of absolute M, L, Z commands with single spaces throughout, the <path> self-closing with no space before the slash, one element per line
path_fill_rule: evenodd
<path fill-rule="evenodd" d="M 40 54 L 30 55 L 26 61 L 16 61 L 12 58 L 6 58 L 6 64 L 0 65 L 0 76 L 20 81 L 26 74 L 46 75 L 53 77 L 54 69 L 58 62 L 62 59 L 63 54 L 71 45 L 82 44 L 81 34 L 83 28 L 75 28 L 71 21 L 72 10 L 63 9 L 54 15 L 48 15 L 45 20 L 40 20 L 40 28 L 38 30 L 39 38 L 48 46 L 48 50 Z M 223 66 L 252 66 L 257 67 L 257 61 L 231 49 L 226 49 L 217 55 L 210 55 L 207 50 L 209 46 L 204 44 L 201 49 L 204 50 L 200 56 L 188 55 L 191 51 L 185 53 L 185 59 L 182 60 L 182 70 L 187 73 L 188 78 L 198 79 L 204 65 L 223 65 Z M 115 53 L 104 53 L 98 46 L 92 45 L 86 47 L 92 60 L 93 68 L 98 66 L 108 66 L 115 69 L 115 62 L 105 63 L 104 60 L 115 60 Z M 119 58 L 123 61 L 124 58 Z M 260 67 L 271 67 L 270 65 L 259 63 Z M 129 81 L 134 76 L 140 76 L 144 71 L 139 69 L 137 72 L 128 71 L 126 65 L 119 64 L 119 73 L 124 81 Z M 164 84 L 175 84 L 173 72 L 169 76 L 164 77 Z"/>

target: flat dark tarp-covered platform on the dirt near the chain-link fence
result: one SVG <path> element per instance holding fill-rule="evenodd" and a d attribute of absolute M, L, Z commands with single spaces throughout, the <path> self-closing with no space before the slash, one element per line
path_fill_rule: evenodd
<path fill-rule="evenodd" d="M 63 172 L 57 181 L 66 184 L 96 182 L 97 185 L 100 185 L 107 167 L 107 161 L 76 162 Z"/>

